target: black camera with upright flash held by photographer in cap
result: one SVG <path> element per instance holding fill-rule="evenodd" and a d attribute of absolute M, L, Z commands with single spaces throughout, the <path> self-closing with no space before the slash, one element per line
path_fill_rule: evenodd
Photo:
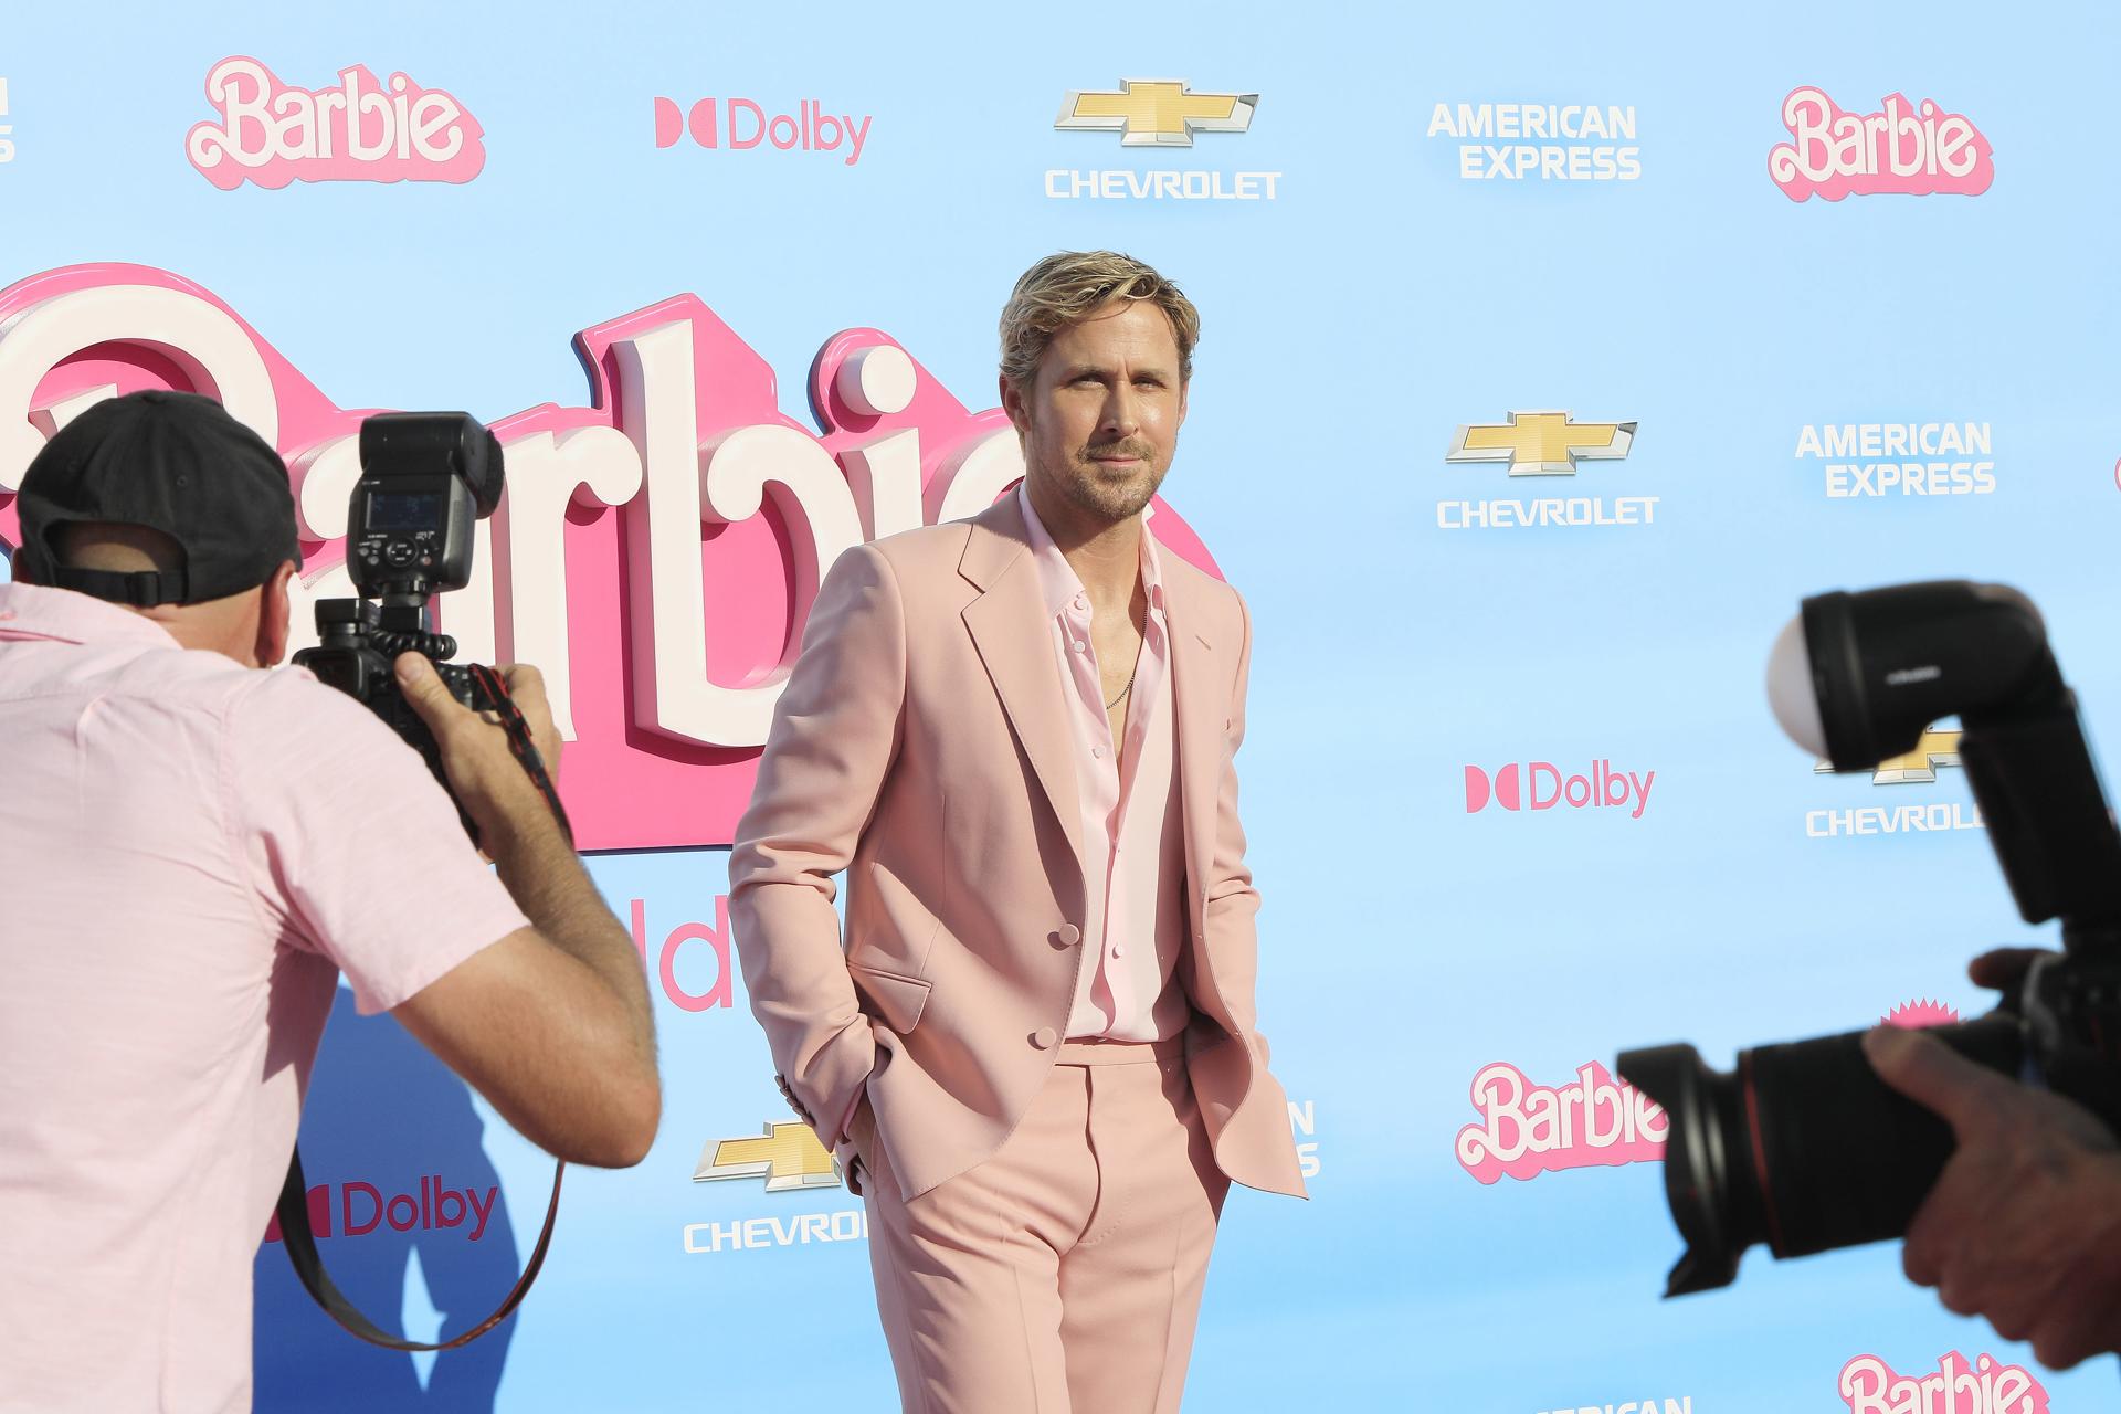
<path fill-rule="evenodd" d="M 361 424 L 361 481 L 348 500 L 346 568 L 361 598 L 320 600 L 318 644 L 295 655 L 320 683 L 384 719 L 448 789 L 435 736 L 405 702 L 392 661 L 422 653 L 475 712 L 509 712 L 492 670 L 450 664 L 433 598 L 471 583 L 473 526 L 501 502 L 501 443 L 469 413 L 378 413 Z M 462 816 L 462 810 L 458 812 Z M 471 829 L 471 818 L 464 829 Z"/>

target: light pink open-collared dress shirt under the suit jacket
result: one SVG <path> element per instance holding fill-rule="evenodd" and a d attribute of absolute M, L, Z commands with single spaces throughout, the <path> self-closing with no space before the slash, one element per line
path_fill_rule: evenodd
<path fill-rule="evenodd" d="M 1090 647 L 1090 596 L 1018 488 L 1031 558 L 1052 613 L 1054 661 L 1075 736 L 1082 799 L 1088 965 L 1075 977 L 1071 1041 L 1164 1041 L 1186 1028 L 1188 1003 L 1171 986 L 1186 943 L 1186 848 L 1171 708 L 1171 628 L 1156 538 L 1141 530 L 1141 585 L 1150 613 L 1126 704 L 1126 750 L 1114 753 L 1105 683 Z"/>

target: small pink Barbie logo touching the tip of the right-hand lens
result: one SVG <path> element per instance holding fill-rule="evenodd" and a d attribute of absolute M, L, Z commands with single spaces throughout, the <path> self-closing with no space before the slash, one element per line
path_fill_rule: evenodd
<path fill-rule="evenodd" d="M 1472 1077 L 1472 1107 L 1480 1124 L 1459 1130 L 1457 1162 L 1480 1183 L 1663 1160 L 1671 1132 L 1663 1109 L 1595 1060 L 1559 1090 L 1497 1060 Z"/>

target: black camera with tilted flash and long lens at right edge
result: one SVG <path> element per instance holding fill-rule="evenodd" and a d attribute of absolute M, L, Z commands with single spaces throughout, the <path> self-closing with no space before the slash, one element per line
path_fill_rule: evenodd
<path fill-rule="evenodd" d="M 1958 714 L 2019 914 L 2059 918 L 2062 954 L 1996 1011 L 1928 1035 L 2121 1130 L 2121 833 L 2032 602 L 1966 581 L 1809 598 L 1775 642 L 1769 697 L 1837 772 L 1875 770 Z M 1953 1138 L 1877 1079 L 1860 1039 L 1760 1045 L 1729 1075 L 1690 1045 L 1620 1056 L 1671 1121 L 1665 1196 L 1686 1253 L 1665 1295 L 1729 1285 L 1754 1242 L 1801 1257 L 1907 1234 Z"/>

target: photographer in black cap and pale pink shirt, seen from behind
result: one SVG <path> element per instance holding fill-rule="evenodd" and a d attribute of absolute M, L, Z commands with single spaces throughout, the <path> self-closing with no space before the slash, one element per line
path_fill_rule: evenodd
<path fill-rule="evenodd" d="M 501 727 L 426 659 L 420 757 L 288 642 L 278 454 L 98 403 L 23 475 L 0 585 L 0 1410 L 250 1408 L 250 1259 L 344 973 L 551 1153 L 636 1164 L 660 1088 L 626 929 Z M 507 683 L 558 776 L 537 670 Z"/>

